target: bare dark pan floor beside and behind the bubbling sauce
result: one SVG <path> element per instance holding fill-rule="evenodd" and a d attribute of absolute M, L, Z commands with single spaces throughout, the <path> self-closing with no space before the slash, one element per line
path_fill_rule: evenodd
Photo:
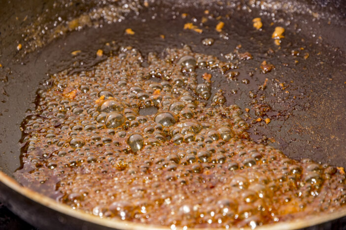
<path fill-rule="evenodd" d="M 104 58 L 117 54 L 119 47 L 135 47 L 147 58 L 149 52 L 162 54 L 167 47 L 181 48 L 183 44 L 190 46 L 194 52 L 220 59 L 225 59 L 236 49 L 252 55 L 253 58 L 239 69 L 237 81 L 213 75 L 215 82 L 211 94 L 222 89 L 226 105 L 237 104 L 243 111 L 249 108 L 252 118 L 258 117 L 254 108 L 258 103 L 254 100 L 271 108 L 263 116 L 269 118 L 270 123 L 251 122 L 249 133 L 254 141 L 270 144 L 294 159 L 311 158 L 336 166 L 346 165 L 341 154 L 345 152 L 346 129 L 343 121 L 346 113 L 343 93 L 345 55 L 332 42 L 312 36 L 310 25 L 300 23 L 309 20 L 310 16 L 301 15 L 287 23 L 273 20 L 271 15 L 263 15 L 257 9 L 251 12 L 236 9 L 223 12 L 211 7 L 209 14 L 213 16 L 209 18 L 205 9 L 193 6 L 176 10 L 170 7 L 162 10 L 160 7 L 144 9 L 138 16 L 131 15 L 131 20 L 70 32 L 28 54 L 22 63 L 12 63 L 10 70 L 2 69 L 6 76 L 10 76 L 3 86 L 5 102 L 1 105 L 3 115 L 0 118 L 4 124 L 1 143 L 5 149 L 1 155 L 3 171 L 12 174 L 20 167 L 18 153 L 21 146 L 17 144 L 21 137 L 19 123 L 27 109 L 35 109 L 35 104 L 31 102 L 35 101 L 37 86 L 39 83 L 41 88 L 49 86 L 47 80 L 50 74 L 71 67 L 72 71 L 90 69 Z M 185 12 L 188 12 L 186 16 Z M 222 18 L 217 19 L 219 16 Z M 253 28 L 252 20 L 257 16 L 261 17 L 264 25 L 262 31 Z M 199 25 L 203 18 L 208 21 L 201 26 L 202 34 L 183 29 L 186 23 Z M 225 34 L 215 30 L 220 21 L 226 25 L 223 29 Z M 276 26 L 285 28 L 280 49 L 272 39 Z M 128 28 L 135 34 L 124 39 L 124 31 Z M 212 38 L 214 43 L 203 45 L 205 38 Z M 104 58 L 97 58 L 99 49 L 104 51 Z M 71 56 L 74 51 L 81 52 Z M 275 70 L 261 73 L 259 68 L 264 60 L 273 64 Z M 249 84 L 243 84 L 244 79 L 249 80 Z M 203 79 L 199 81 L 201 83 Z M 259 86 L 264 82 L 267 82 L 266 89 L 261 90 Z M 256 97 L 251 98 L 253 95 Z"/>

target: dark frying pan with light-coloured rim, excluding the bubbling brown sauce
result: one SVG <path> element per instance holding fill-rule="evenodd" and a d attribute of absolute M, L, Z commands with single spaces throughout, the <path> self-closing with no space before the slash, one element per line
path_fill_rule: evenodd
<path fill-rule="evenodd" d="M 272 122 L 268 126 L 253 124 L 249 130 L 252 139 L 273 145 L 294 159 L 311 158 L 346 166 L 345 1 L 145 2 L 33 0 L 23 4 L 14 0 L 1 3 L 0 199 L 10 210 L 39 229 L 168 229 L 100 219 L 72 210 L 14 179 L 13 173 L 21 166 L 20 125 L 26 111 L 35 109 L 36 90 L 49 85 L 49 74 L 70 67 L 74 71 L 88 69 L 101 61 L 95 59 L 99 48 L 104 48 L 105 55 L 111 55 L 119 46 L 131 45 L 145 56 L 148 52 L 161 53 L 166 47 L 181 47 L 183 43 L 195 52 L 222 58 L 242 44 L 254 57 L 252 67 L 245 67 L 240 75 L 240 80 L 251 79 L 250 84 L 237 85 L 217 78 L 212 92 L 217 88 L 224 91 L 237 88 L 237 94 L 226 93 L 227 103 L 245 109 L 251 103 L 248 89 L 255 90 L 265 78 L 270 79 L 264 101 L 272 107 Z M 114 8 L 107 8 L 109 4 Z M 231 25 L 225 28 L 226 37 L 220 37 L 212 29 L 215 20 L 210 20 L 209 29 L 203 35 L 182 29 L 186 20 L 203 17 L 205 9 L 214 18 L 222 16 L 225 24 Z M 88 12 L 94 14 L 83 21 Z M 187 19 L 181 17 L 182 13 L 188 14 Z M 253 31 L 254 17 L 261 17 L 264 22 L 261 34 Z M 77 25 L 76 18 L 82 19 Z M 281 49 L 274 54 L 269 50 L 273 47 L 271 22 L 286 29 Z M 134 29 L 135 36 L 124 39 L 126 28 Z M 160 34 L 165 34 L 166 39 L 162 40 Z M 215 39 L 210 48 L 201 43 L 206 37 Z M 115 45 L 107 50 L 104 44 L 110 41 Z M 81 50 L 82 54 L 71 58 L 74 50 Z M 306 54 L 309 57 L 305 59 Z M 253 66 L 259 66 L 264 59 L 270 60 L 276 71 L 266 75 L 255 71 Z M 289 95 L 278 89 L 277 82 L 289 86 L 286 90 Z M 344 208 L 259 229 L 345 229 L 345 226 Z"/>

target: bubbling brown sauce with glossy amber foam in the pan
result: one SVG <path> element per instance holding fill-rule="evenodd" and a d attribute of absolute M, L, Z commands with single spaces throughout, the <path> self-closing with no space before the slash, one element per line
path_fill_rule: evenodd
<path fill-rule="evenodd" d="M 188 228 L 256 227 L 345 206 L 345 175 L 257 144 L 208 74 L 216 57 L 134 48 L 91 71 L 61 72 L 24 121 L 17 177 L 102 218 Z M 212 78 L 211 78 L 212 80 Z M 53 189 L 51 189 L 53 188 Z"/>

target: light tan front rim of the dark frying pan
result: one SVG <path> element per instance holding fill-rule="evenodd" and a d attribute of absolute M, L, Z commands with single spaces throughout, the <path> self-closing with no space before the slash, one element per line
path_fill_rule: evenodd
<path fill-rule="evenodd" d="M 35 192 L 27 187 L 21 185 L 14 178 L 10 177 L 6 173 L 0 171 L 0 182 L 5 186 L 14 190 L 15 192 L 23 195 L 24 197 L 35 201 L 43 206 L 53 209 L 59 213 L 71 216 L 73 218 L 97 224 L 107 228 L 119 229 L 119 230 L 171 230 L 170 227 L 154 226 L 148 224 L 138 224 L 130 221 L 116 220 L 116 219 L 102 219 L 94 216 L 90 213 L 83 212 L 81 210 L 73 210 L 70 206 L 59 203 L 49 197 L 42 196 L 42 194 Z M 341 208 L 338 211 L 332 213 L 321 213 L 320 215 L 312 215 L 308 219 L 296 219 L 294 221 L 287 221 L 282 223 L 267 224 L 259 226 L 256 230 L 294 230 L 303 229 L 318 224 L 322 224 L 328 221 L 332 221 L 346 216 L 346 207 Z M 238 230 L 239 228 L 229 228 L 228 230 Z M 183 228 L 176 228 L 176 230 L 183 230 Z M 221 228 L 196 228 L 193 230 L 224 230 Z M 251 228 L 242 228 L 242 230 L 251 230 Z"/>

